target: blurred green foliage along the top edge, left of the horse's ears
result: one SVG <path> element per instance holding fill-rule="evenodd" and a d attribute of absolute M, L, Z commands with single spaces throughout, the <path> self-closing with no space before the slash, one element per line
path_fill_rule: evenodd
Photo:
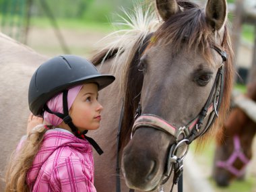
<path fill-rule="evenodd" d="M 108 22 L 111 13 L 120 12 L 120 7 L 132 7 L 133 1 L 127 0 L 32 0 L 32 15 L 44 16 L 40 1 L 44 1 L 56 18 L 76 18 L 92 22 Z M 136 0 L 142 2 L 143 0 Z M 26 0 L 0 0 L 0 11 L 20 13 L 18 9 L 26 6 Z M 15 7 L 15 9 L 13 9 Z"/>

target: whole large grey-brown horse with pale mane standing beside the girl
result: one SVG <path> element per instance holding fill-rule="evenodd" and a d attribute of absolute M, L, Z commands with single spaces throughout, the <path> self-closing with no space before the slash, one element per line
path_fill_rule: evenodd
<path fill-rule="evenodd" d="M 170 191 L 170 174 L 182 173 L 187 145 L 196 138 L 203 145 L 229 106 L 233 66 L 226 0 L 208 0 L 205 8 L 180 0 L 156 0 L 155 5 L 127 15 L 125 26 L 134 28 L 108 36 L 110 44 L 91 59 L 116 77 L 100 91 L 101 127 L 88 134 L 104 150 L 102 156 L 94 153 L 97 191 Z M 1 113 L 0 123 L 9 132 L 1 134 L 8 156 L 25 132 L 17 127 L 28 115 L 28 79 L 46 58 L 3 35 L 0 40 L 5 71 L 0 70 L 9 78 L 1 77 L 1 90 L 11 88 L 15 97 L 9 101 L 3 92 L 0 100 L 1 107 L 12 108 L 9 118 Z M 3 54 L 5 44 L 15 55 Z"/>

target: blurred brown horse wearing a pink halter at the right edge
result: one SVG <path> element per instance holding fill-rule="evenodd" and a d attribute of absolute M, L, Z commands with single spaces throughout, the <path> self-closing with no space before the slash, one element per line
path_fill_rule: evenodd
<path fill-rule="evenodd" d="M 256 82 L 247 85 L 244 97 L 256 101 Z M 222 127 L 223 133 L 216 142 L 212 174 L 217 185 L 227 187 L 234 179 L 243 179 L 247 164 L 253 156 L 255 127 L 255 120 L 243 108 L 234 105 Z"/>

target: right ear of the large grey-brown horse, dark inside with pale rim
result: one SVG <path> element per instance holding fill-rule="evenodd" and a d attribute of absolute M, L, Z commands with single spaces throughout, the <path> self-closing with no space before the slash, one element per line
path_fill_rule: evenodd
<path fill-rule="evenodd" d="M 206 21 L 214 30 L 220 30 L 227 18 L 226 0 L 208 0 L 205 8 Z"/>

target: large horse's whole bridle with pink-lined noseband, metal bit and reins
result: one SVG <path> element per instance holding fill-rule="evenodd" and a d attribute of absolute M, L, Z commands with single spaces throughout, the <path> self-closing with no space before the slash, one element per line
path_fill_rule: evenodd
<path fill-rule="evenodd" d="M 152 34 L 149 34 L 144 40 L 143 46 L 142 46 L 143 49 L 146 49 L 146 46 L 148 45 L 148 40 L 150 39 L 151 36 Z M 212 49 L 217 51 L 217 53 L 222 57 L 222 64 L 220 65 L 218 72 L 216 73 L 216 78 L 215 78 L 212 90 L 210 92 L 210 96 L 207 98 L 205 105 L 201 109 L 201 112 L 199 113 L 199 115 L 195 117 L 195 119 L 187 123 L 187 125 L 184 125 L 181 127 L 175 127 L 174 125 L 171 125 L 171 123 L 168 123 L 168 121 L 165 121 L 164 119 L 162 119 L 157 115 L 141 114 L 140 102 L 135 113 L 135 122 L 132 127 L 131 137 L 133 136 L 135 131 L 141 127 L 152 127 L 154 129 L 158 129 L 160 131 L 164 131 L 170 135 L 173 135 L 176 138 L 176 143 L 174 143 L 170 148 L 170 152 L 169 152 L 167 164 L 166 164 L 166 170 L 164 172 L 164 179 L 162 181 L 162 185 L 164 185 L 164 183 L 168 181 L 171 173 L 174 172 L 172 189 L 173 189 L 173 186 L 176 185 L 178 182 L 179 183 L 182 182 L 182 180 L 179 181 L 179 179 L 182 178 L 183 159 L 185 158 L 189 150 L 189 144 L 193 140 L 195 140 L 197 137 L 206 133 L 207 130 L 211 127 L 212 123 L 214 123 L 214 120 L 216 119 L 216 117 L 218 117 L 218 111 L 220 108 L 220 104 L 222 102 L 223 89 L 224 89 L 224 62 L 227 59 L 227 55 L 226 55 L 226 52 L 222 51 L 217 46 L 212 46 Z M 140 50 L 140 52 L 143 53 L 143 50 L 142 51 Z M 139 55 L 139 57 L 141 57 L 141 55 Z M 209 116 L 209 118 L 207 120 L 206 126 L 200 132 L 200 130 L 202 129 L 203 121 L 207 116 Z M 120 168 L 119 168 L 119 141 L 120 141 L 122 120 L 123 120 L 123 107 L 122 107 L 121 117 L 119 120 L 119 131 L 117 133 L 117 186 L 116 186 L 117 192 L 121 191 Z M 186 144 L 187 148 L 181 156 L 178 156 L 178 148 L 183 144 Z M 182 187 L 180 189 L 182 189 Z M 134 191 L 133 189 L 130 189 L 130 192 L 133 192 L 133 191 Z M 180 192 L 179 189 L 178 191 Z"/>

